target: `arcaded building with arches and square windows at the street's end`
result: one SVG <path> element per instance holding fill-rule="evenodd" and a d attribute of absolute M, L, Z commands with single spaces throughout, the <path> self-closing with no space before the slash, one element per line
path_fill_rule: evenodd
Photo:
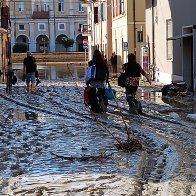
<path fill-rule="evenodd" d="M 80 0 L 13 0 L 9 7 L 12 48 L 23 43 L 31 52 L 83 51 L 87 15 Z M 63 37 L 73 39 L 73 47 L 60 44 Z"/>

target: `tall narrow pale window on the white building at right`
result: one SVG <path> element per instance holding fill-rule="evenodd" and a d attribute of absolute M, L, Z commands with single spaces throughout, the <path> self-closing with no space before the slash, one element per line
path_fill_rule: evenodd
<path fill-rule="evenodd" d="M 172 20 L 166 20 L 166 38 L 172 37 L 173 36 L 173 24 Z M 173 41 L 172 40 L 167 40 L 166 47 L 167 47 L 167 60 L 172 60 L 173 59 Z"/>

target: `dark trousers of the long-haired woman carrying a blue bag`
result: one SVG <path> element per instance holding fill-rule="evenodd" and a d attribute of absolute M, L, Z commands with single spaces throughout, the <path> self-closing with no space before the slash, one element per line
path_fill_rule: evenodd
<path fill-rule="evenodd" d="M 93 112 L 105 113 L 108 105 L 108 100 L 105 96 L 105 89 L 92 88 L 89 92 L 89 102 Z"/>

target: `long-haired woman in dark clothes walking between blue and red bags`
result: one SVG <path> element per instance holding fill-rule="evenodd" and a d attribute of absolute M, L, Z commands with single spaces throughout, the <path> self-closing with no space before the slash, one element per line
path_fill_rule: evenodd
<path fill-rule="evenodd" d="M 91 87 L 89 92 L 89 106 L 94 113 L 105 113 L 108 100 L 105 96 L 105 83 L 109 79 L 109 71 L 99 50 L 95 50 L 93 59 L 88 62 L 89 66 L 96 66 L 96 75 L 93 80 L 87 81 Z"/>

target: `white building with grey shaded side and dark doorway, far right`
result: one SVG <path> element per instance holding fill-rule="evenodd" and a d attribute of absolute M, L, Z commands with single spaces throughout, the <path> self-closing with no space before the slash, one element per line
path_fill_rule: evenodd
<path fill-rule="evenodd" d="M 196 1 L 146 0 L 146 37 L 155 80 L 196 90 Z"/>

